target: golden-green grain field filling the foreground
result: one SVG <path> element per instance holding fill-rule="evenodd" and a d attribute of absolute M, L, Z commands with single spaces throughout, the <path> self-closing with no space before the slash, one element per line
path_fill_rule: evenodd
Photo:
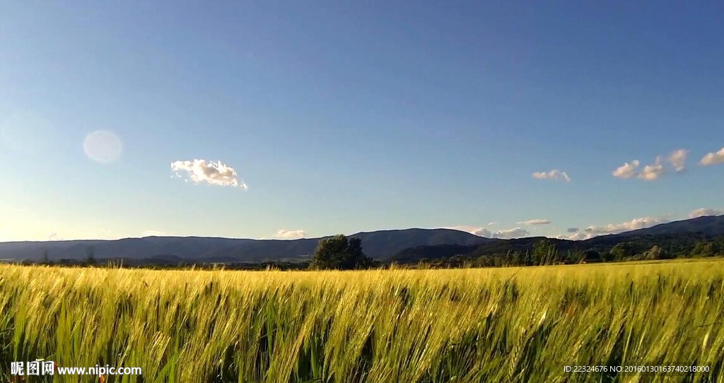
<path fill-rule="evenodd" d="M 0 266 L 0 382 L 11 361 L 36 358 L 143 368 L 143 378 L 106 382 L 724 381 L 723 288 L 720 260 L 364 272 Z M 563 371 L 692 364 L 710 373 Z"/>

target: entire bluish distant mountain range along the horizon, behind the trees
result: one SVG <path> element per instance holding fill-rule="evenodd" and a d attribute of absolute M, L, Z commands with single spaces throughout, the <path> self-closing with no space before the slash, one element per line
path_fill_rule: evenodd
<path fill-rule="evenodd" d="M 647 229 L 603 235 L 585 241 L 554 240 L 560 248 L 597 248 L 626 237 L 724 235 L 724 216 L 702 216 L 659 224 Z M 505 253 L 524 251 L 540 237 L 515 240 L 490 239 L 450 229 L 407 229 L 358 232 L 368 256 L 379 260 L 413 261 L 413 257 L 441 257 L 462 253 Z M 96 259 L 131 259 L 187 262 L 263 262 L 305 260 L 321 238 L 300 240 L 251 240 L 220 237 L 143 237 L 121 240 L 59 240 L 0 243 L 0 259 L 39 261 L 47 256 L 83 260 L 88 253 Z"/>

